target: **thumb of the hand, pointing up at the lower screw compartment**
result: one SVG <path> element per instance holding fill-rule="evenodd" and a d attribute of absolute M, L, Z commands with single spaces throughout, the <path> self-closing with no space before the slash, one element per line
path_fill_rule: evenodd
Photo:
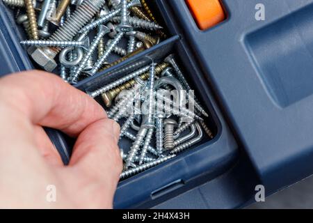
<path fill-rule="evenodd" d="M 106 204 L 111 208 L 122 172 L 119 137 L 120 125 L 109 118 L 88 125 L 79 134 L 70 164 L 63 172 L 67 182 L 74 183 L 67 185 L 70 192 L 79 192 L 79 203 L 87 199 L 95 208 Z"/>

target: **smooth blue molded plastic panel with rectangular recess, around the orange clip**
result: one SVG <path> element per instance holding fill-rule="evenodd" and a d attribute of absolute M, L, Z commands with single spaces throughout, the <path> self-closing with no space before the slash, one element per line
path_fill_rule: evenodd
<path fill-rule="evenodd" d="M 312 174 L 313 1 L 224 0 L 228 20 L 207 31 L 169 3 L 266 192 Z"/>

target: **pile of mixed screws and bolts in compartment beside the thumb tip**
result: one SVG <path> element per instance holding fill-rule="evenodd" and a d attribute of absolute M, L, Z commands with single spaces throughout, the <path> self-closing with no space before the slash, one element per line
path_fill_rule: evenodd
<path fill-rule="evenodd" d="M 132 141 L 128 153 L 121 149 L 125 161 L 121 179 L 198 144 L 203 132 L 209 139 L 214 137 L 203 119 L 209 114 L 194 97 L 173 54 L 162 63 L 144 66 L 88 94 L 101 96 L 111 107 L 109 118 L 121 125 L 120 148 L 125 146 L 125 139 Z"/>

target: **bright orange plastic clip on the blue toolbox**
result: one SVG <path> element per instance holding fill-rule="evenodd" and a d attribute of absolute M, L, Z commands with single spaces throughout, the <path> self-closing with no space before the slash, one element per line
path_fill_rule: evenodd
<path fill-rule="evenodd" d="M 186 0 L 200 29 L 209 29 L 225 20 L 223 7 L 218 0 Z"/>

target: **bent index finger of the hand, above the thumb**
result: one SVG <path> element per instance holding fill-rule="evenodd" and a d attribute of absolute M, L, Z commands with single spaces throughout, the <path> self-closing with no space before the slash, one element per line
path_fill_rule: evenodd
<path fill-rule="evenodd" d="M 31 70 L 0 79 L 0 98 L 33 124 L 77 136 L 88 125 L 107 118 L 104 109 L 60 77 Z M 8 97 L 9 95 L 9 97 Z"/>

